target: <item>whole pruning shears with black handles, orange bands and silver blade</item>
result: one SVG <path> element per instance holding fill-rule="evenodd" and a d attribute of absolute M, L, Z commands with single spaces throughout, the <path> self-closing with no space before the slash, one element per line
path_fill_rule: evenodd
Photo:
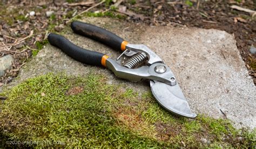
<path fill-rule="evenodd" d="M 197 116 L 191 111 L 171 69 L 146 45 L 130 44 L 110 31 L 84 22 L 74 21 L 71 28 L 79 35 L 122 50 L 123 53 L 117 59 L 111 59 L 103 53 L 80 48 L 55 33 L 48 36 L 50 44 L 79 62 L 107 67 L 117 77 L 135 81 L 149 79 L 153 96 L 166 110 L 188 118 Z"/>

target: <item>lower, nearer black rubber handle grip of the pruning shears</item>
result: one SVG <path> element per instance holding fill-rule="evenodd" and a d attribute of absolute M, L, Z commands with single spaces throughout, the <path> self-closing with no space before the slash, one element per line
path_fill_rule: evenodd
<path fill-rule="evenodd" d="M 102 65 L 103 53 L 80 48 L 79 46 L 71 43 L 70 40 L 55 33 L 50 33 L 48 40 L 51 45 L 58 47 L 66 53 L 66 55 L 76 59 L 78 62 L 89 65 Z"/>

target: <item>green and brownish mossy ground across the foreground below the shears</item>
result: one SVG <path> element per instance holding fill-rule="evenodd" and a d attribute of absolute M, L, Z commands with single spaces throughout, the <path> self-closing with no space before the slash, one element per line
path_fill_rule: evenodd
<path fill-rule="evenodd" d="M 2 145 L 34 141 L 37 147 L 253 147 L 255 131 L 199 115 L 173 116 L 150 92 L 106 84 L 102 75 L 70 77 L 48 73 L 5 90 Z M 54 144 L 54 142 L 59 144 Z M 46 143 L 48 144 L 46 144 Z"/>

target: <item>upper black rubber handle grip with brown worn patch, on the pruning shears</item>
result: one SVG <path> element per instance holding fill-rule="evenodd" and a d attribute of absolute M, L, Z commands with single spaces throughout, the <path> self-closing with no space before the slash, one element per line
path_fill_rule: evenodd
<path fill-rule="evenodd" d="M 121 49 L 124 39 L 103 28 L 79 21 L 73 21 L 71 23 L 71 28 L 75 33 L 95 39 L 115 50 L 124 50 Z"/>

